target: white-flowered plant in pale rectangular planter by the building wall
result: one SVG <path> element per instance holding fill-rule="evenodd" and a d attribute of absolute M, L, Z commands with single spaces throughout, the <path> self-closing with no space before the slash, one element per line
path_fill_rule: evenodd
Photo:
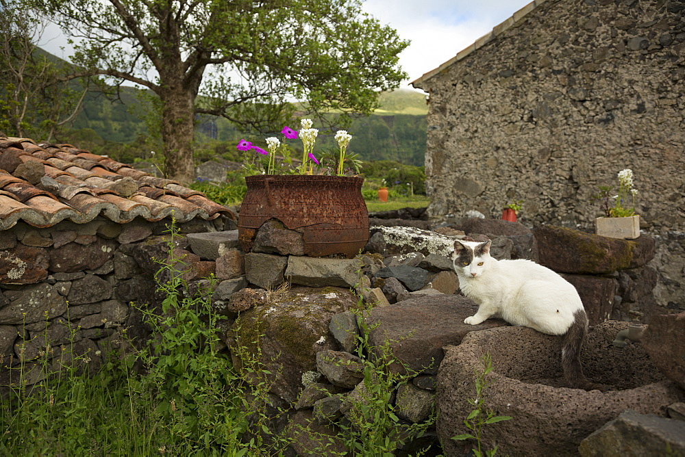
<path fill-rule="evenodd" d="M 626 168 L 618 177 L 618 194 L 612 195 L 614 187 L 604 185 L 592 196 L 600 203 L 605 216 L 595 219 L 595 233 L 603 237 L 634 239 L 640 236 L 640 216 L 635 213 L 638 191 L 633 187 L 633 171 Z"/>

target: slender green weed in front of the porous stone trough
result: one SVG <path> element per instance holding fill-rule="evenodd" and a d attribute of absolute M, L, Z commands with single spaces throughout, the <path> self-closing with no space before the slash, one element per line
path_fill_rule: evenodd
<path fill-rule="evenodd" d="M 492 380 L 488 380 L 488 374 L 493 371 L 492 358 L 490 354 L 484 354 L 481 358 L 483 364 L 482 371 L 476 372 L 475 378 L 475 398 L 469 398 L 469 404 L 473 405 L 473 410 L 464 419 L 464 425 L 466 428 L 471 430 L 471 433 L 459 434 L 457 436 L 452 436 L 453 440 L 464 441 L 467 439 L 475 439 L 477 448 L 471 449 L 476 457 L 493 457 L 497 453 L 497 446 L 493 449 L 486 449 L 483 451 L 481 436 L 483 432 L 483 427 L 501 422 L 508 421 L 512 419 L 510 416 L 497 416 L 492 410 L 486 410 L 485 403 L 485 390 L 492 383 Z"/>

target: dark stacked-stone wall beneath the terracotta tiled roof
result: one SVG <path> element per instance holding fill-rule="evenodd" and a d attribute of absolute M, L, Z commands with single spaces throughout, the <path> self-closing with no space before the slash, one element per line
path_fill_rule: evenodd
<path fill-rule="evenodd" d="M 216 227 L 197 220 L 179 229 Z M 81 358 L 93 372 L 125 337 L 144 335 L 130 303 L 158 302 L 154 275 L 166 259 L 166 230 L 165 222 L 97 218 L 45 229 L 18 222 L 0 232 L 0 384 L 18 380 L 19 370 L 8 368 L 20 363 L 25 382 L 38 382 L 37 359 L 46 354 L 53 371 Z"/>

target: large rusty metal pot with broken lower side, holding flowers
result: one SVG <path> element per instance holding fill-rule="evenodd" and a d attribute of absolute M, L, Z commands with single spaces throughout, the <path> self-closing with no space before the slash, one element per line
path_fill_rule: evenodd
<path fill-rule="evenodd" d="M 360 177 L 262 174 L 246 177 L 240 206 L 238 239 L 251 250 L 254 237 L 269 219 L 303 232 L 305 254 L 344 254 L 351 259 L 369 240 L 369 213 Z"/>

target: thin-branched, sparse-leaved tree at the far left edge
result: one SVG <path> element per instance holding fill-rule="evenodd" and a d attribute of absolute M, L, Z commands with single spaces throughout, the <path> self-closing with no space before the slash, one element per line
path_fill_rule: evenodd
<path fill-rule="evenodd" d="M 51 140 L 81 107 L 86 90 L 67 84 L 60 68 L 36 44 L 45 21 L 0 0 L 0 130 Z M 82 81 L 83 82 L 83 81 Z"/>

